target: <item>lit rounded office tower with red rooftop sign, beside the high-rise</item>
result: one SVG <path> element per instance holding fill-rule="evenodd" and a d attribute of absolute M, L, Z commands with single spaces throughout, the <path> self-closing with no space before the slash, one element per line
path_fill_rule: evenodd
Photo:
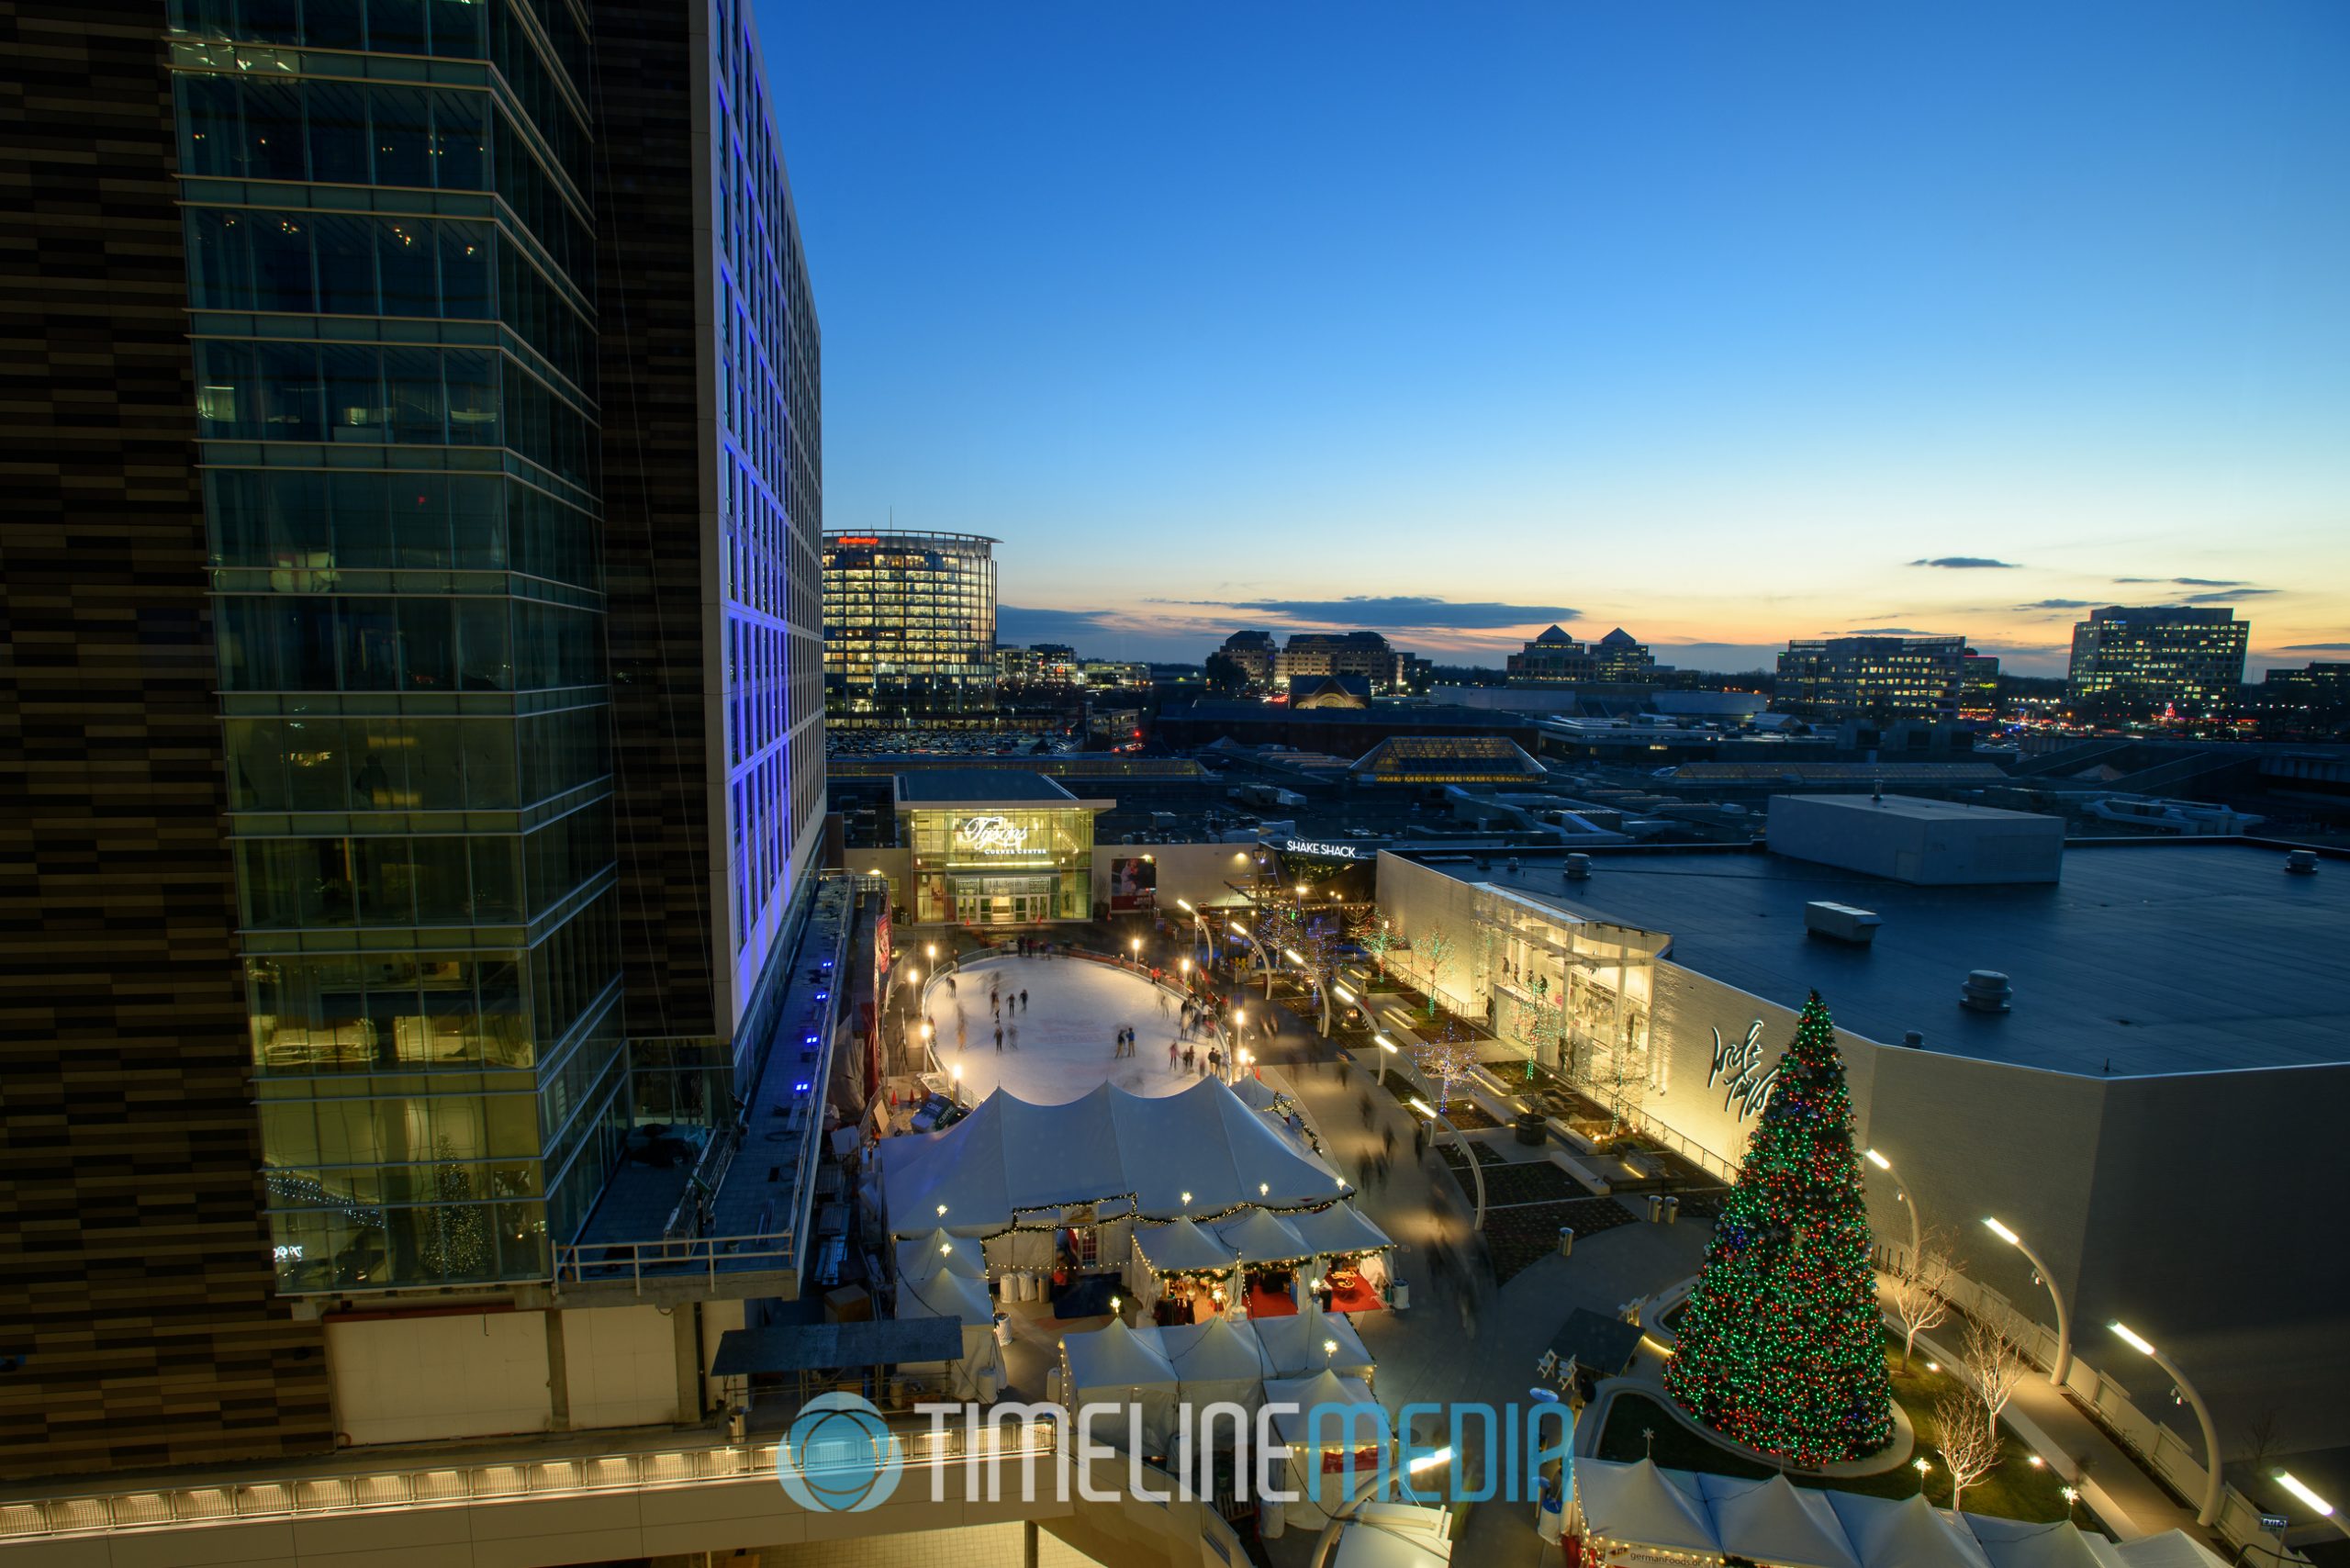
<path fill-rule="evenodd" d="M 980 534 L 825 534 L 825 710 L 834 722 L 994 715 L 994 545 Z"/>

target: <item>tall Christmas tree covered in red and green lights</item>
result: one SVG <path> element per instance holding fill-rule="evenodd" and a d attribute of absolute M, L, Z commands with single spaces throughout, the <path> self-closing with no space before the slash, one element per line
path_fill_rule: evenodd
<path fill-rule="evenodd" d="M 1852 1095 L 1819 992 L 1767 1095 L 1664 1385 L 1748 1448 L 1795 1465 L 1856 1460 L 1892 1441 L 1892 1380 Z"/>

